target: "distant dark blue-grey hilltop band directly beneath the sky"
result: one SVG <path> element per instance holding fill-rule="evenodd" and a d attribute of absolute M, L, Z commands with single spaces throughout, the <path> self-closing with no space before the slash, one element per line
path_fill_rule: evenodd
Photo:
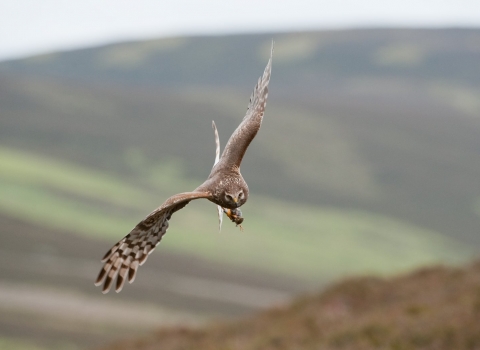
<path fill-rule="evenodd" d="M 53 53 L 0 69 L 102 83 L 249 87 L 274 39 L 277 89 L 303 92 L 367 76 L 478 86 L 478 36 L 478 29 L 372 29 L 171 38 Z"/>

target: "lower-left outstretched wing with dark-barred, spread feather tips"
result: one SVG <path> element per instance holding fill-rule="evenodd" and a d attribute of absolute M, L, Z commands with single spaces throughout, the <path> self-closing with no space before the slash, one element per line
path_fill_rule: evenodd
<path fill-rule="evenodd" d="M 137 269 L 143 265 L 148 255 L 155 249 L 168 229 L 168 221 L 173 213 L 182 209 L 193 199 L 211 198 L 209 192 L 185 192 L 168 198 L 155 209 L 122 240 L 115 244 L 102 259 L 103 265 L 96 286 L 103 284 L 103 293 L 108 293 L 112 282 L 117 278 L 115 291 L 122 290 L 128 273 L 128 282 L 135 280 Z"/>

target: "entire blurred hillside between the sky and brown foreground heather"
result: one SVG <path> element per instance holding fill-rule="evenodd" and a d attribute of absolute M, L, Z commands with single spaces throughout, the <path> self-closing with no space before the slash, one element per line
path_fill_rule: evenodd
<path fill-rule="evenodd" d="M 272 38 L 266 117 L 242 163 L 245 232 L 219 233 L 215 207 L 191 203 L 135 284 L 102 296 L 98 260 L 206 178 L 211 121 L 225 145 Z M 150 320 L 142 332 L 477 256 L 478 62 L 480 30 L 467 29 L 171 38 L 0 62 L 0 336 L 96 345 L 126 334 L 112 312 L 126 304 Z M 44 299 L 24 307 L 19 291 Z M 53 312 L 38 306 L 59 296 Z M 112 309 L 60 311 L 79 296 Z"/>

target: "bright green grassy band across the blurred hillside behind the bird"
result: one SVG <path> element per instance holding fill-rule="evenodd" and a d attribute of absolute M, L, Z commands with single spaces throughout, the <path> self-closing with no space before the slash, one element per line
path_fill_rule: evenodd
<path fill-rule="evenodd" d="M 105 173 L 6 148 L 0 157 L 0 210 L 40 226 L 104 237 L 113 244 L 155 206 L 156 198 L 142 188 Z M 165 177 L 164 185 L 176 179 Z M 215 207 L 202 202 L 175 215 L 160 249 L 314 283 L 356 272 L 459 262 L 472 252 L 437 232 L 393 218 L 292 206 L 255 194 L 244 210 L 245 232 L 227 221 L 218 233 Z M 283 213 L 288 215 L 279 215 Z"/>

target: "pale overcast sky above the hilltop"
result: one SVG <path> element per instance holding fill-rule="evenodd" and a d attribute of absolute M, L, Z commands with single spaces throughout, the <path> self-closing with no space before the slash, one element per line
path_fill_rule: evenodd
<path fill-rule="evenodd" d="M 1 0 L 0 60 L 172 35 L 385 26 L 480 27 L 480 1 Z"/>

